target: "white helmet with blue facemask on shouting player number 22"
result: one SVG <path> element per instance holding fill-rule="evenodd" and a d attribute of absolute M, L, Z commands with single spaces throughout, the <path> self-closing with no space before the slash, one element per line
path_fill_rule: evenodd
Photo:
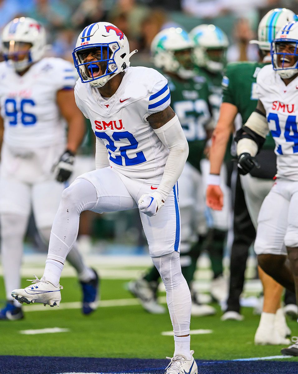
<path fill-rule="evenodd" d="M 109 22 L 95 22 L 80 33 L 73 51 L 74 66 L 83 83 L 102 87 L 129 66 L 129 43 L 123 32 Z M 89 54 L 97 60 L 85 61 Z M 103 74 L 99 74 L 100 70 Z"/>

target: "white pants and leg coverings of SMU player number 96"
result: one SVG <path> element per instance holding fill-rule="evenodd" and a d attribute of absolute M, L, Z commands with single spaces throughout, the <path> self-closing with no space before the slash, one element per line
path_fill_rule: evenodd
<path fill-rule="evenodd" d="M 7 300 L 13 300 L 10 295 L 11 290 L 20 287 L 23 241 L 31 203 L 37 230 L 42 239 L 48 243 L 63 189 L 64 185 L 54 180 L 36 183 L 31 187 L 20 181 L 1 178 L 0 236 Z M 88 282 L 95 278 L 94 271 L 84 264 L 76 248 L 67 260 L 76 269 L 80 281 Z M 16 300 L 13 300 L 13 303 L 16 307 L 20 307 Z"/>

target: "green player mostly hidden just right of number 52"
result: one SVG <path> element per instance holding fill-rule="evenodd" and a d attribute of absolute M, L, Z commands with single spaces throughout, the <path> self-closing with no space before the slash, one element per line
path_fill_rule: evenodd
<path fill-rule="evenodd" d="M 218 120 L 219 107 L 222 100 L 222 76 L 226 65 L 226 53 L 229 45 L 226 34 L 215 25 L 202 24 L 194 27 L 190 31 L 190 38 L 194 42 L 193 61 L 195 71 L 198 76 L 205 77 L 209 85 L 211 95 L 209 102 L 212 106 L 212 116 L 214 123 Z M 226 152 L 225 160 L 229 160 L 229 148 Z M 209 174 L 209 161 L 203 159 L 201 162 L 204 185 Z M 225 204 L 220 212 L 211 211 L 212 218 L 209 222 L 211 226 L 204 243 L 204 247 L 209 253 L 211 267 L 213 271 L 213 280 L 211 282 L 211 295 L 217 301 L 222 302 L 227 298 L 227 280 L 223 276 L 222 258 L 224 253 L 225 239 L 230 226 L 230 204 L 229 189 L 225 183 L 226 168 L 221 168 L 222 184 L 224 190 Z"/>

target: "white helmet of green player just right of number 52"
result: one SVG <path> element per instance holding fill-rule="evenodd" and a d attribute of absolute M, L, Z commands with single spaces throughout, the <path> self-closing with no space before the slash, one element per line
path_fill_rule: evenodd
<path fill-rule="evenodd" d="M 194 42 L 193 59 L 197 66 L 205 67 L 212 73 L 224 69 L 226 51 L 229 45 L 227 35 L 215 25 L 199 25 L 190 31 L 190 38 Z M 211 58 L 208 52 L 222 50 L 218 58 Z"/>

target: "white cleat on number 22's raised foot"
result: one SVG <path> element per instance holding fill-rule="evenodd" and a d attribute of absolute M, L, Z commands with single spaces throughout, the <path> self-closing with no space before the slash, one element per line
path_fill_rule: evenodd
<path fill-rule="evenodd" d="M 11 293 L 12 297 L 18 300 L 19 303 L 42 303 L 44 306 L 59 306 L 61 301 L 61 292 L 63 288 L 58 284 L 54 286 L 52 283 L 45 281 L 44 277 L 38 279 L 27 279 L 31 281 L 33 285 L 26 288 L 14 289 Z"/>

